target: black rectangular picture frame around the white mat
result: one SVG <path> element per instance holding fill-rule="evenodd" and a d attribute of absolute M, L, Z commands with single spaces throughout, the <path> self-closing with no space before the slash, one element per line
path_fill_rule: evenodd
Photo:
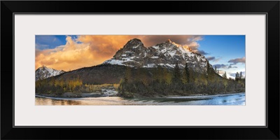
<path fill-rule="evenodd" d="M 279 6 L 279 1 L 1 1 L 1 139 L 279 139 Z M 14 13 L 265 13 L 267 126 L 13 127 Z"/>

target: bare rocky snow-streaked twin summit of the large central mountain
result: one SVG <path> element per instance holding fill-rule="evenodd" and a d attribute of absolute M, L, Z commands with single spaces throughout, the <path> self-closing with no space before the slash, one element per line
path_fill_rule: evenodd
<path fill-rule="evenodd" d="M 195 71 L 207 71 L 208 60 L 203 55 L 193 52 L 186 45 L 179 45 L 170 40 L 146 48 L 141 40 L 134 38 L 118 50 L 112 59 L 106 60 L 103 64 L 142 68 L 157 66 L 174 68 L 176 62 L 180 68 L 183 68 L 187 62 L 188 67 Z"/>

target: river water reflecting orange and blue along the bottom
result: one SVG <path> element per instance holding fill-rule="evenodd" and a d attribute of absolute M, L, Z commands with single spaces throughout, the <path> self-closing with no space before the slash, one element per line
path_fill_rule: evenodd
<path fill-rule="evenodd" d="M 58 98 L 35 97 L 35 104 L 41 105 L 245 105 L 245 92 L 188 97 L 84 97 Z"/>

